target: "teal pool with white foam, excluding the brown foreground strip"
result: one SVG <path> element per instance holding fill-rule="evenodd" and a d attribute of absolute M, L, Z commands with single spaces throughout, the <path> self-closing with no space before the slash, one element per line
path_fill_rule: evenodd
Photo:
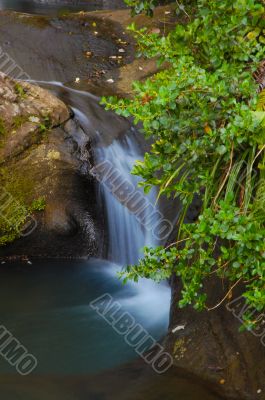
<path fill-rule="evenodd" d="M 124 338 L 89 305 L 105 293 L 155 339 L 165 334 L 169 289 L 147 281 L 125 288 L 117 270 L 101 260 L 43 261 L 1 270 L 1 325 L 37 358 L 34 373 L 95 373 L 136 358 Z M 0 358 L 0 372 L 15 370 Z"/>

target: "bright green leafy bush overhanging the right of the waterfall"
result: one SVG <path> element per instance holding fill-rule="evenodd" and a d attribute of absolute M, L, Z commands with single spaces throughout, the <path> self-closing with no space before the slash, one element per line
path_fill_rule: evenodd
<path fill-rule="evenodd" d="M 189 22 L 167 36 L 130 27 L 139 53 L 158 57 L 164 70 L 136 82 L 133 99 L 103 99 L 108 109 L 141 122 L 153 139 L 133 170 L 145 190 L 158 186 L 159 196 L 173 194 L 183 204 L 176 241 L 145 249 L 143 260 L 124 276 L 161 280 L 176 273 L 183 284 L 180 306 L 197 309 L 207 307 L 205 282 L 226 278 L 230 290 L 223 300 L 243 284 L 247 302 L 261 310 L 265 98 L 253 73 L 264 58 L 265 10 L 256 0 L 192 3 L 183 11 Z M 202 200 L 201 213 L 187 223 L 195 196 Z"/>

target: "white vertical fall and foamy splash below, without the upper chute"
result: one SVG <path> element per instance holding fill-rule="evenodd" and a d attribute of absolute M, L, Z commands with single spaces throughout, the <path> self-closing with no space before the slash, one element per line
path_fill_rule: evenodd
<path fill-rule="evenodd" d="M 142 152 L 137 143 L 135 133 L 130 130 L 126 136 L 120 140 L 114 140 L 111 145 L 103 146 L 96 150 L 96 161 L 110 162 L 113 169 L 117 169 L 124 181 L 128 181 L 135 187 L 135 191 L 141 192 L 143 198 L 156 208 L 156 190 L 152 190 L 148 195 L 139 189 L 139 178 L 131 174 L 131 170 L 136 160 L 142 159 Z M 120 179 L 117 185 L 120 184 Z M 105 207 L 105 214 L 108 225 L 108 259 L 116 265 L 105 273 L 116 275 L 121 267 L 131 264 L 137 264 L 142 256 L 144 246 L 156 246 L 157 238 L 154 236 L 150 227 L 146 227 L 143 221 L 145 213 L 141 220 L 135 213 L 129 211 L 113 195 L 107 185 L 100 184 L 100 200 Z M 148 211 L 146 211 L 147 213 Z M 159 223 L 159 221 L 154 221 Z M 137 315 L 138 320 L 145 321 L 146 326 L 167 325 L 169 307 L 170 307 L 170 289 L 167 284 L 157 284 L 151 280 L 139 279 L 138 283 L 130 282 L 129 285 L 134 288 L 135 296 L 121 297 L 124 309 Z"/>

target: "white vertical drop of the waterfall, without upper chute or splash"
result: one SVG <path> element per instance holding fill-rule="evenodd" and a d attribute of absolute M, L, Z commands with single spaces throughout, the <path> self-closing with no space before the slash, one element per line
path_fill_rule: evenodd
<path fill-rule="evenodd" d="M 156 209 L 156 190 L 151 190 L 148 195 L 145 195 L 138 187 L 139 178 L 131 174 L 136 160 L 141 159 L 141 149 L 133 129 L 122 139 L 116 139 L 109 146 L 102 146 L 96 150 L 97 163 L 107 162 L 108 173 L 114 180 L 110 188 L 108 181 L 104 179 L 103 183 L 100 183 L 99 192 L 107 218 L 108 259 L 120 265 L 137 263 L 144 246 L 157 245 L 157 239 L 150 225 L 145 224 L 150 208 Z M 120 190 L 119 188 L 124 190 L 123 187 L 126 185 L 131 186 L 130 198 L 134 199 L 131 201 L 131 207 L 122 204 L 120 198 L 115 195 Z M 133 201 L 136 210 L 134 212 L 130 209 Z M 143 210 L 142 204 L 146 210 Z"/>

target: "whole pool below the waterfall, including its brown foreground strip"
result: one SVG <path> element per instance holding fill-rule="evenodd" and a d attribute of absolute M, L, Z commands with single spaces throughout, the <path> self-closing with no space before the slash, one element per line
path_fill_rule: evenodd
<path fill-rule="evenodd" d="M 4 400 L 218 400 L 194 378 L 157 374 L 90 307 L 109 293 L 155 339 L 165 334 L 170 292 L 141 281 L 122 286 L 103 260 L 33 262 L 0 269 L 0 325 L 38 361 L 20 376 L 0 357 Z"/>

